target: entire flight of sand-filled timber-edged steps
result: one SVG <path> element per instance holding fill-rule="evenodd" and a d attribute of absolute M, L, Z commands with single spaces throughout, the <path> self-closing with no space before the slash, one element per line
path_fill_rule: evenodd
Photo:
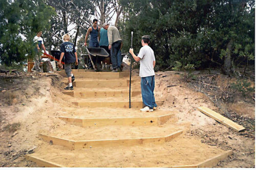
<path fill-rule="evenodd" d="M 232 154 L 184 135 L 186 125 L 175 123 L 175 112 L 160 110 L 164 102 L 157 98 L 154 112 L 140 112 L 138 93 L 127 109 L 129 72 L 72 71 L 75 90 L 63 91 L 70 95 L 63 100 L 74 107 L 57 113 L 54 128 L 41 130 L 43 140 L 27 160 L 46 167 L 212 167 Z M 132 81 L 132 91 L 139 92 L 139 77 Z M 102 96 L 104 90 L 109 95 Z"/>

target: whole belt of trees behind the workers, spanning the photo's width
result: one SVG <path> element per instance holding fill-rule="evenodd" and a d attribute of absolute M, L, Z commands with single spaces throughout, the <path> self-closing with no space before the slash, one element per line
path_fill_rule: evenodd
<path fill-rule="evenodd" d="M 71 33 L 84 53 L 84 36 L 96 17 L 100 25 L 115 23 L 126 52 L 131 31 L 135 52 L 141 36 L 150 35 L 157 69 L 221 66 L 230 75 L 254 61 L 254 6 L 252 0 L 3 0 L 0 62 L 11 65 L 32 56 L 37 30 L 47 50 L 59 48 L 63 34 Z"/>

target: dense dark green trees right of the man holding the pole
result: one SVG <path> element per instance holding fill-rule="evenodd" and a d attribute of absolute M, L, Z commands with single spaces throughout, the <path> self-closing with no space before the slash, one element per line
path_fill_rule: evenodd
<path fill-rule="evenodd" d="M 150 46 L 160 69 L 196 69 L 224 64 L 230 40 L 234 64 L 254 60 L 254 1 L 131 0 L 123 1 L 126 18 L 120 23 L 124 50 L 139 51 L 143 35 L 150 35 Z M 177 65 L 177 62 L 182 66 Z"/>

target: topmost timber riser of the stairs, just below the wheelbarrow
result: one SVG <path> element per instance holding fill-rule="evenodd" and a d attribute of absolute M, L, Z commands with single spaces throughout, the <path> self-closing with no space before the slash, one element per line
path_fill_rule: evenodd
<path fill-rule="evenodd" d="M 61 76 L 67 77 L 65 70 L 61 70 L 58 72 Z M 130 72 L 123 71 L 123 72 L 91 72 L 85 71 L 83 69 L 72 70 L 73 75 L 76 79 L 81 78 L 91 78 L 91 79 L 119 79 L 124 77 L 129 77 Z"/>

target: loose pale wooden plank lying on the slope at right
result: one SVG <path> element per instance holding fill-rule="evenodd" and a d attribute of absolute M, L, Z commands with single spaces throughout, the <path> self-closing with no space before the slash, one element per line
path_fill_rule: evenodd
<path fill-rule="evenodd" d="M 232 120 L 224 117 L 223 115 L 207 108 L 204 106 L 201 106 L 198 108 L 199 111 L 203 112 L 204 114 L 206 114 L 207 116 L 217 120 L 218 122 L 220 122 L 221 124 L 232 128 L 233 130 L 236 130 L 238 132 L 244 130 L 245 128 L 241 125 L 238 125 L 237 123 L 234 123 Z"/>

